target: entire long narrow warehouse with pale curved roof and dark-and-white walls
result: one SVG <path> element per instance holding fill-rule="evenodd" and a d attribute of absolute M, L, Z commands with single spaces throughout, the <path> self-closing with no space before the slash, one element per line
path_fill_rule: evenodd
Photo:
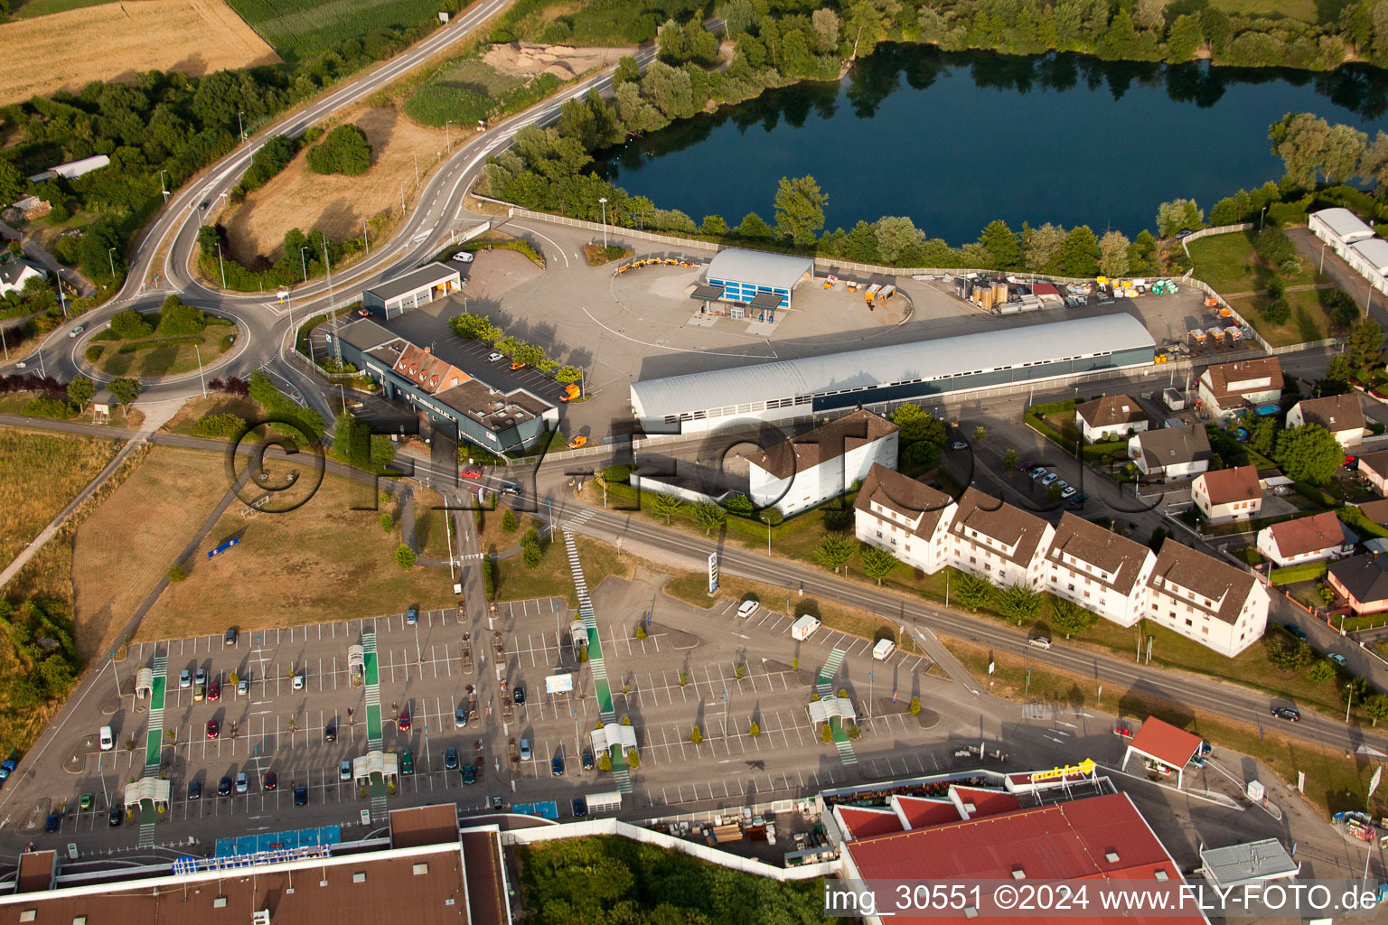
<path fill-rule="evenodd" d="M 1138 319 L 1101 315 L 641 380 L 632 383 L 632 412 L 651 434 L 783 423 L 1146 366 L 1155 349 Z"/>

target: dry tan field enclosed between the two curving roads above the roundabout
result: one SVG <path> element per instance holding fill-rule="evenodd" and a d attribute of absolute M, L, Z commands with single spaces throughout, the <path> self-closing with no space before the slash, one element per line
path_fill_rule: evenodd
<path fill-rule="evenodd" d="M 415 157 L 423 183 L 444 154 L 444 133 L 412 122 L 393 105 L 355 108 L 340 122 L 355 122 L 366 133 L 371 169 L 361 176 L 325 176 L 310 171 L 300 153 L 223 219 L 236 259 L 243 263 L 255 255 L 279 259 L 285 232 L 291 227 L 305 232 L 316 227 L 339 241 L 359 237 L 365 219 L 386 211 L 398 218 L 401 183 L 408 207 L 414 208 Z M 454 144 L 459 136 L 452 132 Z"/>

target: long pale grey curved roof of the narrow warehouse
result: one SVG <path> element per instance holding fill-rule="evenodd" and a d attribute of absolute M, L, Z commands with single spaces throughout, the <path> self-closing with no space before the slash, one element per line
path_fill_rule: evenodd
<path fill-rule="evenodd" d="M 761 402 L 858 387 L 940 380 L 1144 347 L 1155 348 L 1156 344 L 1142 322 L 1127 313 L 1101 315 L 648 379 L 632 383 L 632 408 L 641 419 L 668 417 L 715 404 Z"/>

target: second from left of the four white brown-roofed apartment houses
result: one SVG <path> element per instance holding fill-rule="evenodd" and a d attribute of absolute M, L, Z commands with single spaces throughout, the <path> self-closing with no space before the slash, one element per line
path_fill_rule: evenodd
<path fill-rule="evenodd" d="M 1055 528 L 1035 515 L 969 488 L 949 523 L 949 564 L 998 587 L 1035 587 L 1053 535 Z"/>

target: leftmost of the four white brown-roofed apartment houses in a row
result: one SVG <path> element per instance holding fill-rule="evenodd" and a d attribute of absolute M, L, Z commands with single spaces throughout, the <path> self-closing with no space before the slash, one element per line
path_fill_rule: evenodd
<path fill-rule="evenodd" d="M 854 535 L 926 574 L 949 564 L 955 501 L 883 465 L 867 470 L 854 502 Z"/>

